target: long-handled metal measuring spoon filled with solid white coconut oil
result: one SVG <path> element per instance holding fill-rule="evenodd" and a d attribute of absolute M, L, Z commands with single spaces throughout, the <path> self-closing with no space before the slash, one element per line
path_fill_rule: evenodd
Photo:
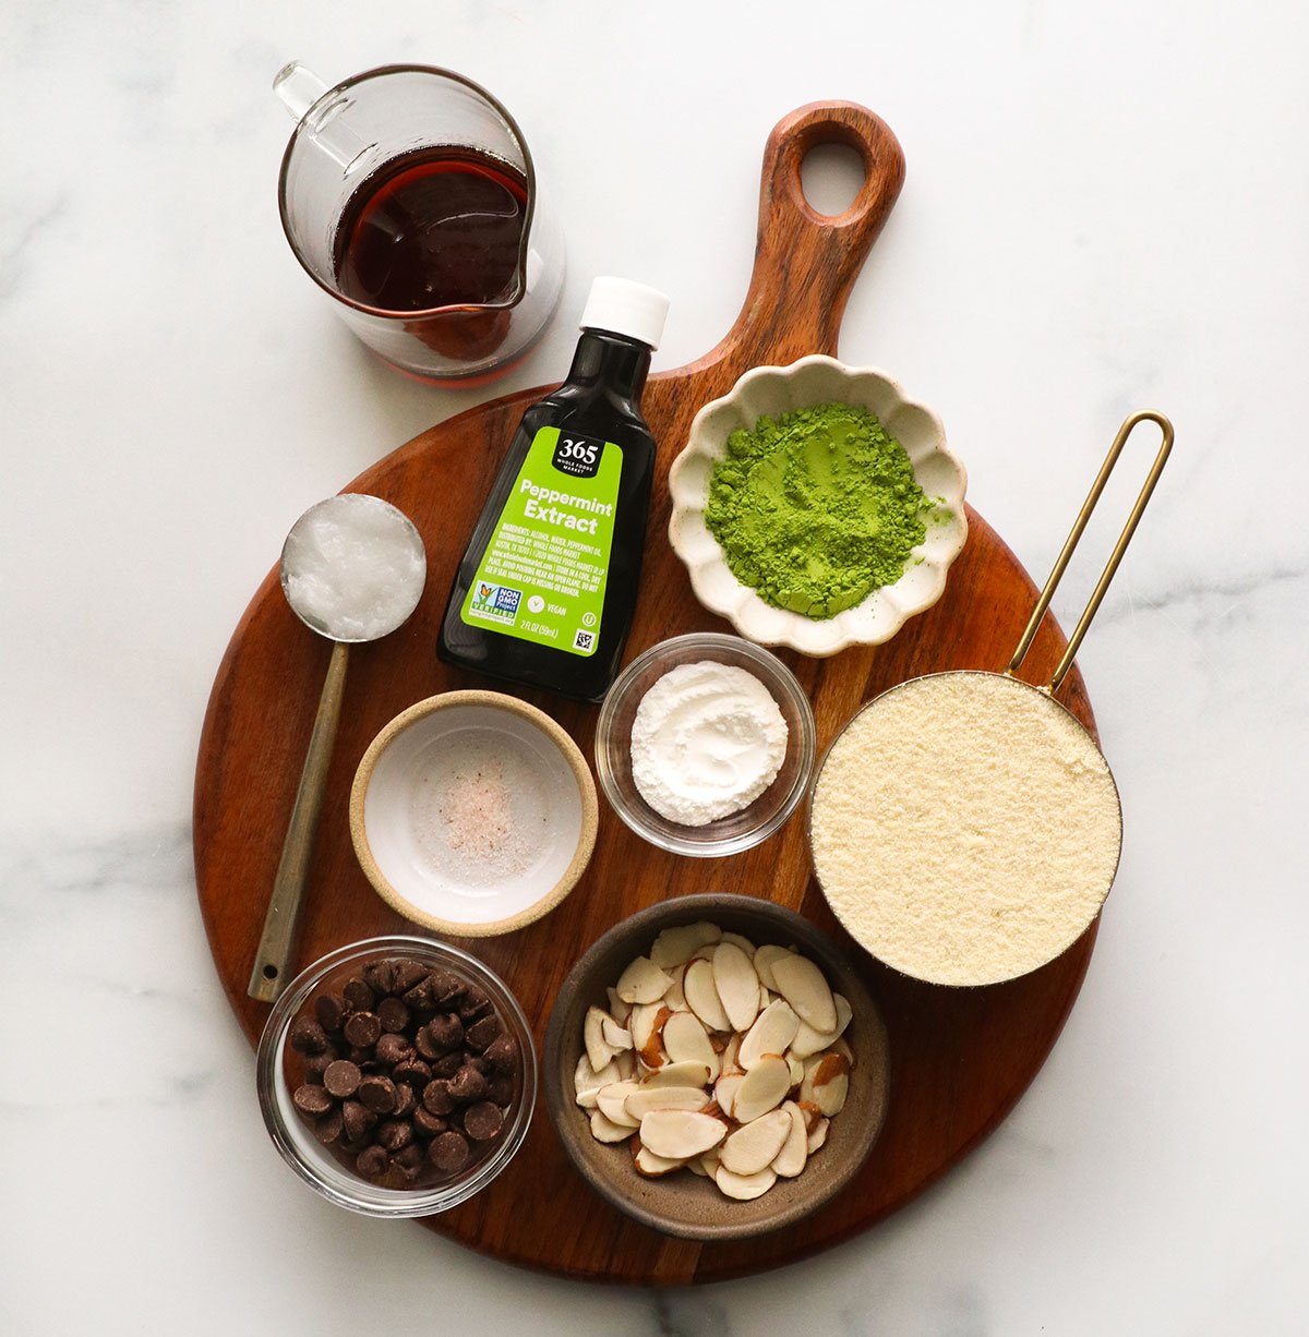
<path fill-rule="evenodd" d="M 282 992 L 290 975 L 350 646 L 377 640 L 408 620 L 423 595 L 427 552 L 402 511 L 381 497 L 345 492 L 310 507 L 291 525 L 281 579 L 295 616 L 334 644 L 246 991 L 263 1003 Z"/>

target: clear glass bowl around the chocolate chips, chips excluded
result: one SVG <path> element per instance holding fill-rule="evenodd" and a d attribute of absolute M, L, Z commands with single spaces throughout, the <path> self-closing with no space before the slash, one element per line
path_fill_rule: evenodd
<path fill-rule="evenodd" d="M 441 967 L 463 980 L 477 984 L 487 992 L 505 1031 L 519 1046 L 521 1070 L 500 1140 L 484 1159 L 443 1183 L 414 1189 L 388 1189 L 370 1183 L 346 1169 L 329 1147 L 322 1146 L 291 1104 L 291 1088 L 285 1075 L 291 1023 L 318 989 L 344 983 L 364 963 L 378 957 L 417 960 L 432 968 Z M 259 1110 L 274 1146 L 310 1189 L 316 1189 L 329 1202 L 366 1217 L 427 1217 L 448 1211 L 475 1193 L 480 1193 L 513 1159 L 527 1136 L 532 1111 L 536 1108 L 536 1050 L 517 999 L 481 961 L 445 943 L 394 933 L 337 948 L 291 980 L 273 1004 L 263 1027 L 255 1059 L 255 1080 Z"/>

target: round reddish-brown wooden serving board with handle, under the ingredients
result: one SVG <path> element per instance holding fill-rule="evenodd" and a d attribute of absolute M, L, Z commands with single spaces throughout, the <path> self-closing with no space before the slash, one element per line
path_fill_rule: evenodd
<path fill-rule="evenodd" d="M 862 155 L 868 180 L 845 214 L 824 218 L 805 203 L 800 162 L 814 144 L 832 142 Z M 659 463 L 628 659 L 682 631 L 730 630 L 695 603 L 669 548 L 669 464 L 697 409 L 726 393 L 742 372 L 837 352 L 845 301 L 903 176 L 904 159 L 890 131 L 853 103 L 804 107 L 770 135 L 755 266 L 741 314 L 715 349 L 654 377 L 644 396 Z M 405 927 L 354 860 L 346 818 L 350 782 L 369 741 L 400 710 L 439 691 L 495 686 L 441 664 L 437 628 L 495 468 L 523 409 L 540 393 L 523 390 L 443 422 L 348 489 L 382 496 L 413 519 L 428 547 L 429 575 L 405 627 L 352 651 L 310 872 L 301 967 L 334 947 Z M 967 460 L 968 443 L 952 445 Z M 1035 599 L 1032 582 L 1009 550 L 969 512 L 968 544 L 945 595 L 890 643 L 826 660 L 782 652 L 813 701 L 820 750 L 862 702 L 905 678 L 941 668 L 1003 668 Z M 1034 682 L 1048 678 L 1063 646 L 1047 619 L 1024 675 Z M 195 779 L 197 884 L 218 973 L 251 1042 L 267 1005 L 249 999 L 246 984 L 330 652 L 295 620 L 270 572 L 233 635 L 205 719 Z M 547 693 L 515 694 L 559 719 L 594 761 L 596 707 Z M 1062 699 L 1094 729 L 1076 670 Z M 1054 1046 L 1095 939 L 1092 925 L 1063 957 L 1009 984 L 920 984 L 872 961 L 844 937 L 810 877 L 802 816 L 755 849 L 707 861 L 646 845 L 604 809 L 590 869 L 559 909 L 517 933 L 463 945 L 504 976 L 539 1043 L 560 981 L 602 932 L 642 906 L 701 890 L 742 892 L 793 906 L 845 941 L 860 963 L 885 1016 L 892 1055 L 886 1126 L 861 1174 L 818 1214 L 776 1234 L 738 1243 L 669 1239 L 628 1221 L 586 1186 L 542 1102 L 508 1170 L 477 1198 L 423 1225 L 513 1263 L 644 1284 L 761 1271 L 846 1239 L 921 1193 L 1004 1118 Z M 282 1173 L 271 1159 L 269 1173 Z M 304 1190 L 286 1175 L 286 1191 Z"/>

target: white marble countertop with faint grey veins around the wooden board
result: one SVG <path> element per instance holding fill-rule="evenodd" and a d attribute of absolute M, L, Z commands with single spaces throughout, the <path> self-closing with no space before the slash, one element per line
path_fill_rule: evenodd
<path fill-rule="evenodd" d="M 0 1329 L 1304 1332 L 1306 41 L 1290 3 L 8 0 Z M 191 873 L 210 682 L 295 516 L 480 397 L 377 365 L 294 263 L 290 57 L 447 64 L 523 123 L 571 267 L 509 388 L 598 271 L 671 294 L 657 366 L 709 348 L 769 128 L 837 96 L 909 163 L 842 356 L 939 408 L 1034 572 L 1124 412 L 1177 424 L 1080 656 L 1127 813 L 1080 1000 L 995 1136 L 814 1261 L 587 1288 L 337 1211 L 267 1142 Z"/>

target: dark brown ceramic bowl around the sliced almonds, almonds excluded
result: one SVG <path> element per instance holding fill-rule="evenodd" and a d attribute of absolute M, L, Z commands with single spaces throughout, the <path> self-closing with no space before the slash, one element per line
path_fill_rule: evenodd
<path fill-rule="evenodd" d="M 852 1020 L 842 1039 L 853 1067 L 844 1108 L 832 1118 L 828 1138 L 805 1169 L 778 1178 L 762 1197 L 741 1202 L 690 1170 L 659 1178 L 636 1171 L 627 1143 L 603 1143 L 591 1135 L 590 1111 L 576 1102 L 575 1072 L 584 1052 L 587 1008 L 608 1008 L 606 988 L 636 956 L 650 952 L 659 932 L 707 920 L 755 947 L 796 947 L 844 995 Z M 784 905 L 754 896 L 701 894 L 638 910 L 604 933 L 574 965 L 555 1000 L 546 1029 L 542 1086 L 546 1107 L 564 1151 L 578 1171 L 619 1211 L 665 1234 L 685 1239 L 746 1239 L 808 1217 L 840 1193 L 868 1159 L 886 1118 L 889 1095 L 886 1027 L 858 972 L 836 943 Z"/>

